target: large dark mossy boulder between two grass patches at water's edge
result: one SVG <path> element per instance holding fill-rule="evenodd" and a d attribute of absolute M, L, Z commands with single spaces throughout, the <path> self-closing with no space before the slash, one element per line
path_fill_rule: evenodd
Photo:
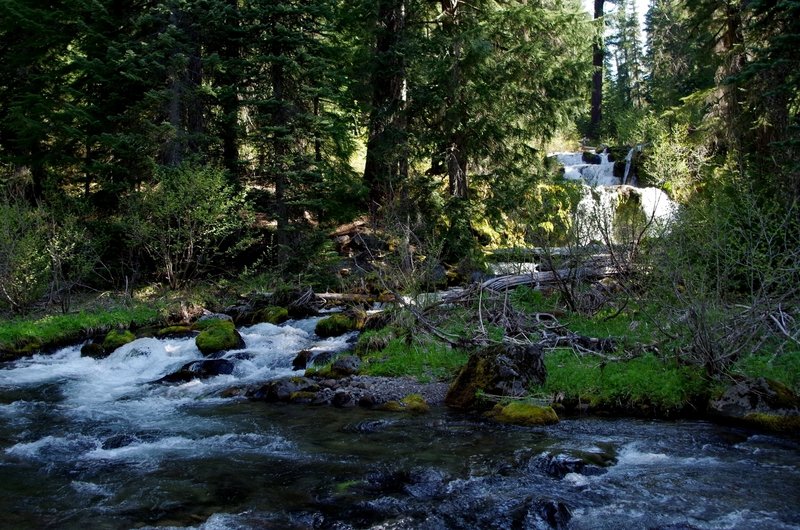
<path fill-rule="evenodd" d="M 547 370 L 541 346 L 498 344 L 470 355 L 445 397 L 456 409 L 472 409 L 478 391 L 495 396 L 524 396 L 533 384 L 544 383 Z"/>

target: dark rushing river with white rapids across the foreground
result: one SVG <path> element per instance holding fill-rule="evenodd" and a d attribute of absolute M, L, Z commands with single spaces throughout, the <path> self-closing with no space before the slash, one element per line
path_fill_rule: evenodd
<path fill-rule="evenodd" d="M 298 350 L 346 347 L 314 322 L 245 328 L 233 374 L 179 385 L 152 381 L 201 357 L 191 339 L 3 366 L 0 527 L 800 528 L 797 439 L 224 397 L 293 373 Z"/>

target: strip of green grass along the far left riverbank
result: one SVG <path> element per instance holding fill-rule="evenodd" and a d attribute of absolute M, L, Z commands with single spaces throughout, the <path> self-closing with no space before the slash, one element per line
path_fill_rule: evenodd
<path fill-rule="evenodd" d="M 0 350 L 14 352 L 32 343 L 38 343 L 39 347 L 62 344 L 77 340 L 83 333 L 96 334 L 120 326 L 153 324 L 160 321 L 161 316 L 159 309 L 152 305 L 135 305 L 35 319 L 3 320 L 0 321 Z"/>

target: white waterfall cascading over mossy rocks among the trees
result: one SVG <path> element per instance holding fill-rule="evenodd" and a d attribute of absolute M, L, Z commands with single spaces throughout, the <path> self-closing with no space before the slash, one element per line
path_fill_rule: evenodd
<path fill-rule="evenodd" d="M 639 188 L 630 179 L 632 148 L 625 158 L 622 178 L 614 175 L 615 163 L 608 152 L 599 155 L 599 163 L 587 163 L 583 152 L 554 153 L 564 166 L 564 179 L 582 184 L 582 197 L 576 212 L 577 235 L 583 244 L 594 241 L 624 243 L 644 232 L 663 233 L 675 217 L 677 205 L 659 188 Z M 594 153 L 592 153 L 594 154 Z"/>

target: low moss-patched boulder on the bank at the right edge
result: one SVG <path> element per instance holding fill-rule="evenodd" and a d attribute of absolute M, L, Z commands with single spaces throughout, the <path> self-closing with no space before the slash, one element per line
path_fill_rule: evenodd
<path fill-rule="evenodd" d="M 712 399 L 708 410 L 727 423 L 800 432 L 800 397 L 786 385 L 763 377 L 740 379 Z"/>

